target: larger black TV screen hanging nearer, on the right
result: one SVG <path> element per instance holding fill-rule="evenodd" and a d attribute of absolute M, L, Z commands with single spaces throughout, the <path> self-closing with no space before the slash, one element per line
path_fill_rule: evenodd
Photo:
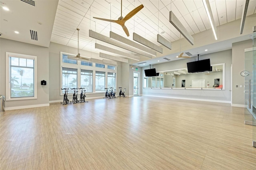
<path fill-rule="evenodd" d="M 188 72 L 205 72 L 211 71 L 210 59 L 187 62 Z"/>

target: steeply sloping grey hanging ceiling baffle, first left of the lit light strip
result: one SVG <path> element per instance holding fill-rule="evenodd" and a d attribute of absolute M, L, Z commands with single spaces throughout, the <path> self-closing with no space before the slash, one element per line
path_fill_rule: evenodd
<path fill-rule="evenodd" d="M 188 42 L 190 42 L 190 44 L 194 45 L 194 38 L 189 34 L 189 32 L 172 11 L 170 11 L 169 14 L 169 21 L 180 32 L 180 34 L 182 34 L 188 40 Z"/>

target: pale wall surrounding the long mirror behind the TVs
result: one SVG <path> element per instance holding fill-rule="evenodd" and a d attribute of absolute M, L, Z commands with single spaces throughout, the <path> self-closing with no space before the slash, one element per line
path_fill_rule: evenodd
<path fill-rule="evenodd" d="M 199 56 L 200 60 L 210 58 L 211 64 L 221 64 L 225 63 L 225 90 L 192 90 L 192 89 L 143 89 L 142 94 L 148 96 L 161 96 L 168 98 L 184 98 L 191 100 L 204 100 L 204 101 L 216 101 L 216 102 L 226 102 L 231 101 L 231 63 L 232 63 L 232 50 L 225 50 L 221 52 L 215 52 L 211 54 Z M 197 61 L 197 57 L 186 58 L 182 60 L 176 60 L 172 62 L 166 62 L 161 64 L 156 64 L 151 66 L 151 68 L 156 68 L 156 72 L 162 72 L 166 70 L 178 70 L 181 68 L 186 68 L 187 62 Z M 147 67 L 142 68 L 142 72 Z M 177 81 L 177 80 L 176 80 Z M 178 82 L 179 83 L 179 82 Z M 187 83 L 187 82 L 186 82 Z"/>

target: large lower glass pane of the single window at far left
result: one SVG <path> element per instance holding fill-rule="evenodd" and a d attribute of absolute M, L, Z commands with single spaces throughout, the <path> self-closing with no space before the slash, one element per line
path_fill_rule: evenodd
<path fill-rule="evenodd" d="M 11 98 L 34 96 L 34 68 L 11 66 L 10 82 Z"/>

